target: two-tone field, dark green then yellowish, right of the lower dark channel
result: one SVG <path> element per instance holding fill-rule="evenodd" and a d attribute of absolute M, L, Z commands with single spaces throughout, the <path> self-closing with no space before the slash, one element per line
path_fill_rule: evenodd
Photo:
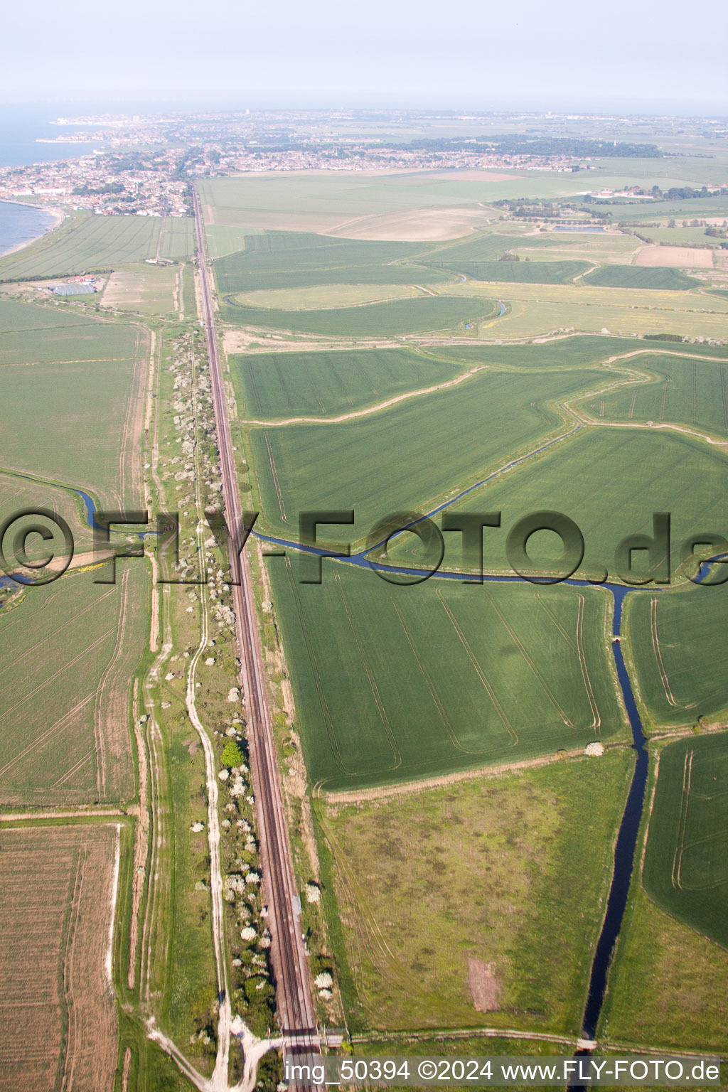
<path fill-rule="evenodd" d="M 726 735 L 661 740 L 654 759 L 646 852 L 632 879 L 599 1036 L 725 1053 Z"/>

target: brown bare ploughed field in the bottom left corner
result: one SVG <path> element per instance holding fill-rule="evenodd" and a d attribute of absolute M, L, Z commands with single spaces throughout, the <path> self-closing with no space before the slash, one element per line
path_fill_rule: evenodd
<path fill-rule="evenodd" d="M 0 1066 L 13 1092 L 109 1089 L 117 1012 L 104 973 L 115 826 L 0 829 Z"/>

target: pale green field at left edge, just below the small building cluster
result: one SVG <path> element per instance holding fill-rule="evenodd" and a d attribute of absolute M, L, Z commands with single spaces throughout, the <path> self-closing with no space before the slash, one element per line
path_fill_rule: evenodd
<path fill-rule="evenodd" d="M 0 365 L 129 360 L 142 339 L 135 327 L 7 299 L 0 299 Z"/>

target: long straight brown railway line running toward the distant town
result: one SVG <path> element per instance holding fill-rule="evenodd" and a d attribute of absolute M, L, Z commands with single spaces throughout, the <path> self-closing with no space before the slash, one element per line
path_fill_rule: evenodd
<path fill-rule="evenodd" d="M 232 529 L 240 525 L 242 512 L 196 193 L 194 193 L 194 221 L 225 519 L 228 527 Z M 230 557 L 230 568 L 232 572 L 238 568 L 234 557 Z M 268 907 L 268 928 L 272 937 L 271 954 L 276 980 L 278 1021 L 284 1042 L 289 1048 L 311 1052 L 319 1049 L 319 1035 L 308 962 L 296 912 L 298 892 L 294 881 L 290 845 L 278 781 L 273 722 L 267 700 L 252 579 L 244 550 L 239 569 L 240 584 L 234 585 L 232 596 L 242 664 L 240 677 L 246 697 L 250 769 L 263 868 L 263 892 Z"/>

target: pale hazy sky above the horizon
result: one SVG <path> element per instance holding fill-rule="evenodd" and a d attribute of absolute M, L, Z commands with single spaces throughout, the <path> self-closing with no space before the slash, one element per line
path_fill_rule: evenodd
<path fill-rule="evenodd" d="M 37 0 L 2 31 L 0 103 L 728 114 L 727 0 Z"/>

